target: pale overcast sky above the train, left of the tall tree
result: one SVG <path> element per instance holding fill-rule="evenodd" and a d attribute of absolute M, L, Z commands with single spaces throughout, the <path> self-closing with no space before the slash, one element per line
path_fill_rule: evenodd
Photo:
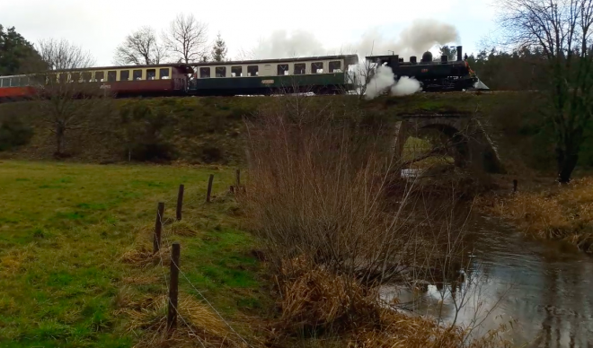
<path fill-rule="evenodd" d="M 97 65 L 111 65 L 115 48 L 129 32 L 143 25 L 160 32 L 181 12 L 207 22 L 210 39 L 220 32 L 228 56 L 235 58 L 240 49 L 286 57 L 288 50 L 298 56 L 323 55 L 352 46 L 364 55 L 369 52 L 359 52 L 367 50 L 360 43 L 369 39 L 380 42 L 375 48 L 383 50 L 373 53 L 389 54 L 385 50 L 399 48 L 400 34 L 415 20 L 453 25 L 460 42 L 450 44 L 461 44 L 470 54 L 495 28 L 492 11 L 490 0 L 0 0 L 0 24 L 16 27 L 33 43 L 69 39 L 91 51 Z M 279 45 L 285 38 L 288 45 Z"/>

